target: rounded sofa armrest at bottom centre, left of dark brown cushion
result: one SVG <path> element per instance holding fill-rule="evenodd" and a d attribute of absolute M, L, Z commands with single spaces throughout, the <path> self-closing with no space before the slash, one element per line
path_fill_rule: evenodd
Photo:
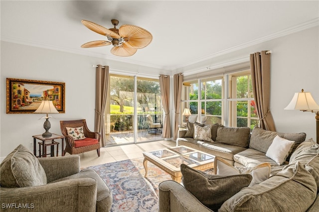
<path fill-rule="evenodd" d="M 172 180 L 159 185 L 159 212 L 212 212 L 182 185 Z"/>

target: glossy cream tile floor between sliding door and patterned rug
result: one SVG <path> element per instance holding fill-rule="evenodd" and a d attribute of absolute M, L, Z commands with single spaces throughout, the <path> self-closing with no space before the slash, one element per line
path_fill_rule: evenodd
<path fill-rule="evenodd" d="M 160 140 L 138 144 L 103 147 L 100 150 L 100 157 L 98 157 L 96 151 L 84 152 L 78 155 L 80 156 L 81 168 L 85 168 L 121 160 L 141 158 L 143 157 L 144 151 L 163 149 L 175 145 L 175 141 Z M 66 155 L 68 154 L 69 153 L 66 153 Z"/>

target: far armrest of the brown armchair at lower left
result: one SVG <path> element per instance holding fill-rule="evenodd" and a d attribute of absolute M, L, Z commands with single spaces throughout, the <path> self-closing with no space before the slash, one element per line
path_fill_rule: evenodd
<path fill-rule="evenodd" d="M 78 155 L 45 157 L 38 160 L 45 171 L 48 183 L 80 172 L 80 156 Z"/>

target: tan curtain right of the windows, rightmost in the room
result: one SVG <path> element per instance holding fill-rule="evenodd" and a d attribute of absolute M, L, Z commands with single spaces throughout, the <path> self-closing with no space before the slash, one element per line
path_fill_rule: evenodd
<path fill-rule="evenodd" d="M 270 53 L 267 51 L 250 54 L 251 81 L 256 103 L 259 127 L 276 131 L 270 112 Z"/>

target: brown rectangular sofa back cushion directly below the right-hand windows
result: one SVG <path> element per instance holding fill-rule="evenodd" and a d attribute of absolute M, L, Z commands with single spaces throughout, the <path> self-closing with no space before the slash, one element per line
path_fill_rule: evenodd
<path fill-rule="evenodd" d="M 248 147 L 249 127 L 227 127 L 220 125 L 217 129 L 216 141 L 220 143 Z"/>

